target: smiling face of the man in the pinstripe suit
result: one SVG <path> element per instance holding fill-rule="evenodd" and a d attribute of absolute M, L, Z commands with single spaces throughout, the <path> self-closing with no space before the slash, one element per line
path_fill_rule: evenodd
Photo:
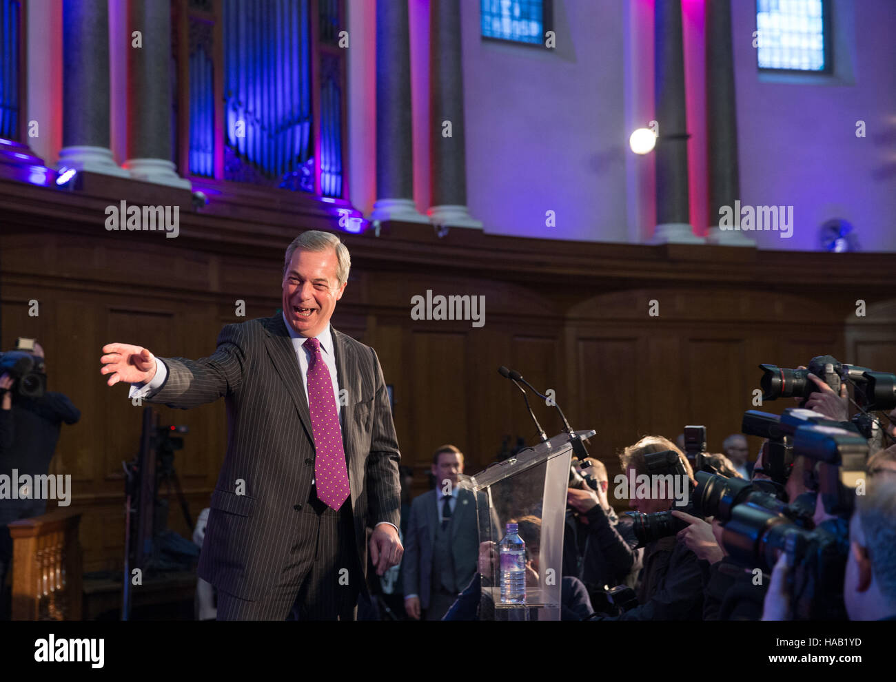
<path fill-rule="evenodd" d="M 292 254 L 283 277 L 283 314 L 303 337 L 316 337 L 330 324 L 345 290 L 336 277 L 337 264 L 335 249 Z"/>

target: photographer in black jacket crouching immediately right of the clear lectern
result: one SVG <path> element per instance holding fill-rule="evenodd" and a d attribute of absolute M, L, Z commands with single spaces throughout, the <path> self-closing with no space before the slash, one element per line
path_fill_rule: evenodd
<path fill-rule="evenodd" d="M 607 499 L 607 467 L 589 457 L 597 490 L 585 485 L 566 490 L 566 501 L 577 513 L 580 536 L 585 541 L 581 550 L 582 572 L 577 575 L 589 592 L 602 591 L 616 584 L 634 584 L 642 567 L 642 549 L 630 523 L 620 523 Z M 564 544 L 565 554 L 565 544 Z"/>

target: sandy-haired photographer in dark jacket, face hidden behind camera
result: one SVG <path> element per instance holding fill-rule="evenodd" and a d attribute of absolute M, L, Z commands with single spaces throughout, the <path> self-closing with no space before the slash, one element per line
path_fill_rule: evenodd
<path fill-rule="evenodd" d="M 694 472 L 681 450 L 661 436 L 646 436 L 625 448 L 619 457 L 626 477 L 647 474 L 645 455 L 665 450 L 676 452 L 690 482 Z M 630 504 L 638 512 L 651 514 L 674 508 L 674 496 L 641 496 L 640 487 L 630 490 Z M 644 567 L 637 591 L 638 606 L 606 620 L 701 620 L 703 569 L 700 560 L 676 536 L 652 541 L 644 550 Z"/>

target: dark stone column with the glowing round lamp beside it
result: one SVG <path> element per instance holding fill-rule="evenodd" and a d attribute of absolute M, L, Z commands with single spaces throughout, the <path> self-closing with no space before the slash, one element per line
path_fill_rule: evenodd
<path fill-rule="evenodd" d="M 681 0 L 656 0 L 654 93 L 657 138 L 657 227 L 653 243 L 702 243 L 687 197 L 687 116 Z"/>

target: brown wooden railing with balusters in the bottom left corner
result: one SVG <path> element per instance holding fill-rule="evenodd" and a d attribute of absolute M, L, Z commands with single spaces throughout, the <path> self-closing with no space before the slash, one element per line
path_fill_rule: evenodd
<path fill-rule="evenodd" d="M 55 509 L 9 524 L 13 538 L 13 620 L 80 620 L 81 513 Z"/>

